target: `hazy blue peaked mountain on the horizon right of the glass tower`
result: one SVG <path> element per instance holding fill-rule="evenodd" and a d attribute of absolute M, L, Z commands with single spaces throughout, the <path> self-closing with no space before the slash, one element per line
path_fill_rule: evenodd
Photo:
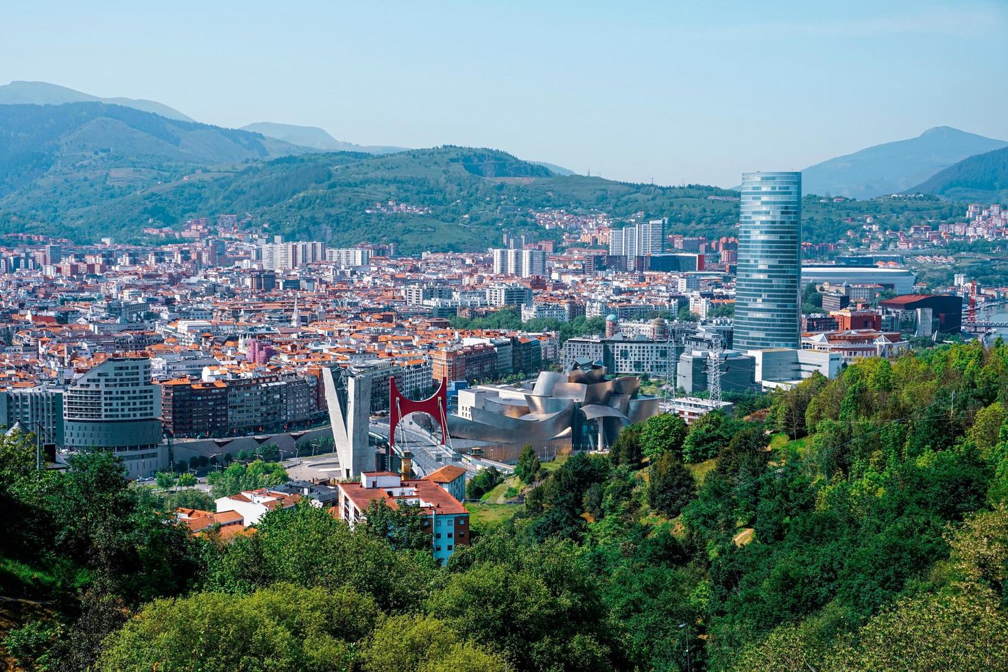
<path fill-rule="evenodd" d="M 913 189 L 958 161 L 1008 146 L 949 126 L 816 163 L 801 171 L 805 193 L 871 198 Z"/>

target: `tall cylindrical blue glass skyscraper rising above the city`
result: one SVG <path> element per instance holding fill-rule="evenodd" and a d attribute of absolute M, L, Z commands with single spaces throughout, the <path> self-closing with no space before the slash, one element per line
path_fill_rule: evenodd
<path fill-rule="evenodd" d="M 734 348 L 800 348 L 801 173 L 743 173 L 739 224 Z"/>

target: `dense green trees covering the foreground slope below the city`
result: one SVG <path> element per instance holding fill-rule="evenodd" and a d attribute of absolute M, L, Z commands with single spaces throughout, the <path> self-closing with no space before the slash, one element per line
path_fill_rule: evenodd
<path fill-rule="evenodd" d="M 5 593 L 56 606 L 6 646 L 51 670 L 676 670 L 687 645 L 697 670 L 1008 669 L 1008 348 L 771 401 L 695 422 L 681 454 L 643 458 L 660 420 L 535 469 L 447 567 L 408 512 L 352 530 L 302 504 L 194 539 L 113 458 L 39 474 L 4 437 Z"/>

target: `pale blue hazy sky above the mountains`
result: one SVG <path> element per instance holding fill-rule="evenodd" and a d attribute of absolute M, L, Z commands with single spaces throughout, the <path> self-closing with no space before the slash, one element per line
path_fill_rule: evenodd
<path fill-rule="evenodd" d="M 630 181 L 732 186 L 934 126 L 1008 139 L 1008 0 L 38 0 L 3 23 L 0 84 Z"/>

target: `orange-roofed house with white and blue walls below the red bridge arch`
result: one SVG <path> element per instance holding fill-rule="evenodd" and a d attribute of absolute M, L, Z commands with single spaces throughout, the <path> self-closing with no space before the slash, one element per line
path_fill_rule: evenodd
<path fill-rule="evenodd" d="M 383 501 L 392 509 L 404 502 L 420 507 L 438 562 L 448 562 L 456 546 L 469 545 L 469 511 L 433 481 L 403 481 L 392 472 L 365 472 L 360 483 L 340 483 L 337 488 L 340 499 L 330 511 L 351 527 L 365 519 L 372 502 Z"/>

